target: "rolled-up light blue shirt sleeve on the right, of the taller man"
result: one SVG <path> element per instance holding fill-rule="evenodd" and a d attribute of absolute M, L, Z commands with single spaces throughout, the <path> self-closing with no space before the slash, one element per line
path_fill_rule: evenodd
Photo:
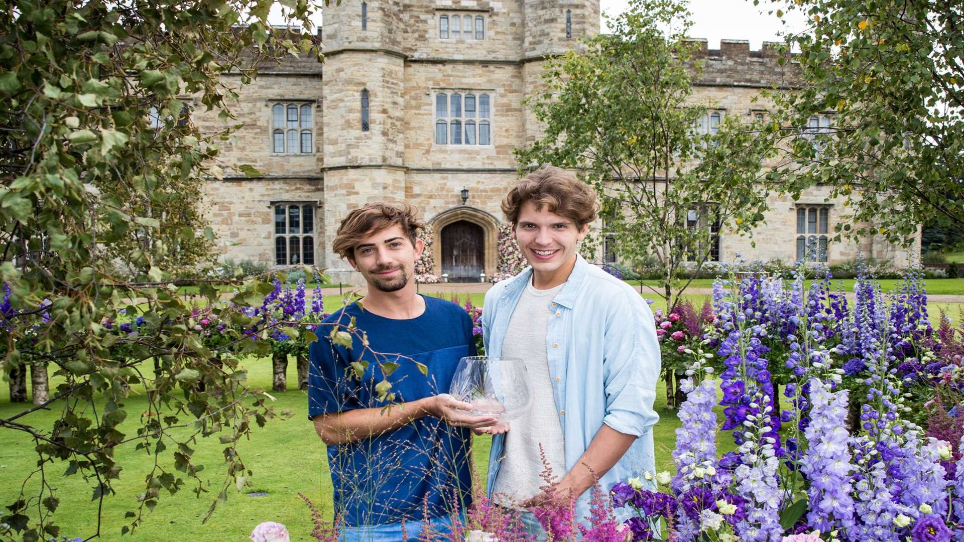
<path fill-rule="evenodd" d="M 639 437 L 659 420 L 653 409 L 660 371 L 653 313 L 641 297 L 620 295 L 610 303 L 605 325 L 603 423 Z"/>

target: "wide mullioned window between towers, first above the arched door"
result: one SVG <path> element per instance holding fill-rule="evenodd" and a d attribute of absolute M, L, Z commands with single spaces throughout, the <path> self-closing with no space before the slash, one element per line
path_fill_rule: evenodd
<path fill-rule="evenodd" d="M 438 93 L 435 95 L 435 143 L 492 145 L 490 117 L 490 95 Z"/>

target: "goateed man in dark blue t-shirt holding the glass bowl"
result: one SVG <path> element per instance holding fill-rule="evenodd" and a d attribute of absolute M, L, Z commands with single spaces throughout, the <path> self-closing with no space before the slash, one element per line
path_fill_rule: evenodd
<path fill-rule="evenodd" d="M 415 293 L 421 228 L 408 203 L 368 203 L 335 235 L 333 250 L 368 291 L 315 332 L 308 417 L 328 445 L 343 540 L 418 539 L 426 524 L 447 532 L 469 504 L 469 431 L 496 423 L 446 393 L 459 359 L 475 355 L 472 323 L 457 305 Z M 333 330 L 349 333 L 351 347 Z M 393 398 L 379 400 L 383 381 Z"/>

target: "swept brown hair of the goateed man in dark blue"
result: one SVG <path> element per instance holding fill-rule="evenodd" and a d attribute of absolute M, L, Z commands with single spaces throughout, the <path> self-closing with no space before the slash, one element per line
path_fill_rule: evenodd
<path fill-rule="evenodd" d="M 425 223 L 415 215 L 418 209 L 406 202 L 372 202 L 351 211 L 341 221 L 335 232 L 332 250 L 342 259 L 355 259 L 355 246 L 366 236 L 375 231 L 385 230 L 392 226 L 401 226 L 405 236 L 415 246 L 415 238 L 419 230 L 425 229 Z"/>

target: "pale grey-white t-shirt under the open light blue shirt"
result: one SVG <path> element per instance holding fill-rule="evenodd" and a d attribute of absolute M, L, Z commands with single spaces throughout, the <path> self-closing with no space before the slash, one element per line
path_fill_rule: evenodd
<path fill-rule="evenodd" d="M 541 491 L 540 486 L 546 485 L 542 477 L 545 466 L 539 455 L 540 444 L 555 480 L 566 474 L 562 425 L 552 396 L 546 345 L 549 315 L 553 313 L 549 304 L 562 286 L 540 290 L 531 282 L 525 285 L 502 342 L 503 357 L 519 358 L 525 363 L 533 394 L 531 410 L 511 420 L 505 434 L 503 459 L 493 487 L 499 501 L 511 500 L 503 501 L 503 505 L 535 497 Z"/>

